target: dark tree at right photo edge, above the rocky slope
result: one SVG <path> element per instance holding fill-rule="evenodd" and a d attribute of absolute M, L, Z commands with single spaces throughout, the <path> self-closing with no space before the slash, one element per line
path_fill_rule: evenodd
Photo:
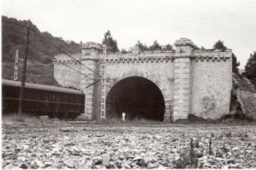
<path fill-rule="evenodd" d="M 245 72 L 242 75 L 251 80 L 251 83 L 256 87 L 256 51 L 250 54 L 250 58 L 245 65 Z"/>

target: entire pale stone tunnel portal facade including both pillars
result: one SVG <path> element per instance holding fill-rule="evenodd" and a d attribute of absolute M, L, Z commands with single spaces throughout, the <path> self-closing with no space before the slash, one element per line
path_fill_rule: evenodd
<path fill-rule="evenodd" d="M 81 54 L 73 56 L 83 65 L 102 74 L 102 50 L 97 44 L 89 42 L 83 45 Z M 164 119 L 187 119 L 188 114 L 205 119 L 218 119 L 229 114 L 230 91 L 232 89 L 231 50 L 195 50 L 188 38 L 180 38 L 172 51 L 151 51 L 148 53 L 114 53 L 107 55 L 106 74 L 107 94 L 115 83 L 127 77 L 144 77 L 155 83 L 163 95 L 166 111 Z M 93 77 L 92 71 L 81 67 L 68 56 L 56 56 L 54 77 L 64 87 L 85 90 L 93 80 L 81 78 L 71 68 Z M 61 70 L 67 70 L 61 71 Z M 110 83 L 111 82 L 111 83 Z M 114 83 L 113 83 L 114 82 Z M 101 99 L 100 83 L 87 88 L 86 117 L 99 118 Z M 173 109 L 172 109 L 173 108 Z M 111 110 L 111 107 L 109 107 Z M 112 111 L 112 110 L 111 110 Z M 112 111 L 114 112 L 114 111 Z"/>

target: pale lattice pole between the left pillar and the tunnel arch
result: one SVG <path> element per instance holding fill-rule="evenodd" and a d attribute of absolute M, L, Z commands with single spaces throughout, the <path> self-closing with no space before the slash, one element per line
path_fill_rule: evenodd
<path fill-rule="evenodd" d="M 100 119 L 105 120 L 105 89 L 106 89 L 106 75 L 105 75 L 105 62 L 106 62 L 106 45 L 103 44 L 103 63 L 102 63 L 102 99 L 100 105 Z"/>

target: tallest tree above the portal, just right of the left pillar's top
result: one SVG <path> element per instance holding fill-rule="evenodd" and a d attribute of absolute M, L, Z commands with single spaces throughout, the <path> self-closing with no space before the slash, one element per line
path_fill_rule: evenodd
<path fill-rule="evenodd" d="M 107 46 L 108 53 L 117 53 L 119 49 L 117 47 L 117 40 L 111 37 L 111 32 L 108 30 L 104 34 L 104 39 L 102 40 L 102 44 Z"/>

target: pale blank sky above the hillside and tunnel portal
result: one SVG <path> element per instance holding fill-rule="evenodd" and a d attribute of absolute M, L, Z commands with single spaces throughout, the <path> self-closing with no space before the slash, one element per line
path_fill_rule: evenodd
<path fill-rule="evenodd" d="M 256 51 L 255 0 L 4 0 L 2 15 L 31 20 L 41 32 L 102 43 L 111 31 L 119 49 L 190 38 L 212 48 L 221 39 L 243 68 Z"/>

